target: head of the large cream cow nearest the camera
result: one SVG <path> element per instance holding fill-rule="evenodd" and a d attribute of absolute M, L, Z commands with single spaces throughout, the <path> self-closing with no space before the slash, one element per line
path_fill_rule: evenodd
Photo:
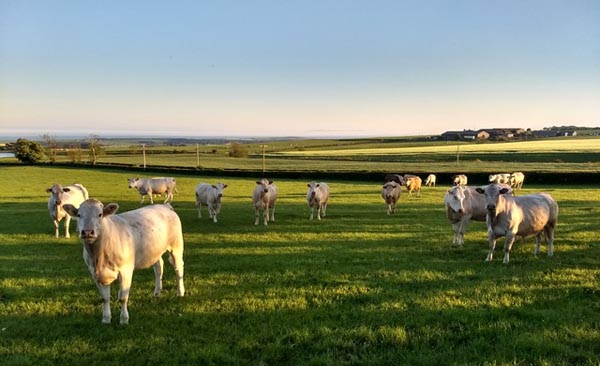
<path fill-rule="evenodd" d="M 77 217 L 77 232 L 81 240 L 88 245 L 94 244 L 101 234 L 102 220 L 106 216 L 117 212 L 119 205 L 109 203 L 104 207 L 102 202 L 90 198 L 84 201 L 79 208 L 71 204 L 64 206 L 65 211 L 73 217 Z"/>

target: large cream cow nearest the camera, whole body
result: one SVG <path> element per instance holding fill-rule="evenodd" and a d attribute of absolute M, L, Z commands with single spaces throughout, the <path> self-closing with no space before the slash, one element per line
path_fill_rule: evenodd
<path fill-rule="evenodd" d="M 127 301 L 134 269 L 154 267 L 154 296 L 162 291 L 163 259 L 169 261 L 177 276 L 177 296 L 184 296 L 183 234 L 181 220 L 171 205 L 153 205 L 116 214 L 119 205 L 90 198 L 79 208 L 65 205 L 76 216 L 77 231 L 83 244 L 83 260 L 102 297 L 102 323 L 110 324 L 110 284 L 119 279 L 121 324 L 129 323 Z"/>

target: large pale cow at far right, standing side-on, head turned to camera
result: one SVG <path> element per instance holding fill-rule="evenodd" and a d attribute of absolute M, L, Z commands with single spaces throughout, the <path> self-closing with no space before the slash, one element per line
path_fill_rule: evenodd
<path fill-rule="evenodd" d="M 486 198 L 487 227 L 490 249 L 486 261 L 494 254 L 496 239 L 505 236 L 504 260 L 509 262 L 510 250 L 517 235 L 535 235 L 535 255 L 540 252 L 542 233 L 548 244 L 548 256 L 554 253 L 554 229 L 558 222 L 558 204 L 547 193 L 524 196 L 507 195 L 509 189 L 490 184 L 476 189 Z"/>

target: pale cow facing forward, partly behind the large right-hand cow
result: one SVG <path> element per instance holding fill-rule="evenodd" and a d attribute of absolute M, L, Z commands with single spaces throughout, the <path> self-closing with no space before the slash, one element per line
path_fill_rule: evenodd
<path fill-rule="evenodd" d="M 454 186 L 444 195 L 446 217 L 454 229 L 453 245 L 463 245 L 465 232 L 471 220 L 485 221 L 485 197 L 469 186 Z"/>

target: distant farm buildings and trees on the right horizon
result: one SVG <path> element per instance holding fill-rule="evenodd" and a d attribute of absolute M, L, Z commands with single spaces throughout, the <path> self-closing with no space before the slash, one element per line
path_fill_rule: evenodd
<path fill-rule="evenodd" d="M 530 128 L 482 128 L 479 130 L 446 131 L 439 137 L 443 141 L 511 141 L 550 137 L 598 136 L 600 128 L 589 127 L 546 127 L 541 130 Z"/>

